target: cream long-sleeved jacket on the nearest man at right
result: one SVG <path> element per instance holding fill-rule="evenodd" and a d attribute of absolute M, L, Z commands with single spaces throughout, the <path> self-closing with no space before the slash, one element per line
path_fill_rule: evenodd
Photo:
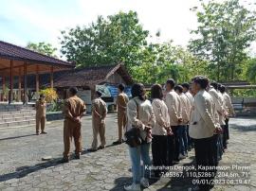
<path fill-rule="evenodd" d="M 189 134 L 194 139 L 213 136 L 215 130 L 214 103 L 210 94 L 204 90 L 194 96 Z"/>

